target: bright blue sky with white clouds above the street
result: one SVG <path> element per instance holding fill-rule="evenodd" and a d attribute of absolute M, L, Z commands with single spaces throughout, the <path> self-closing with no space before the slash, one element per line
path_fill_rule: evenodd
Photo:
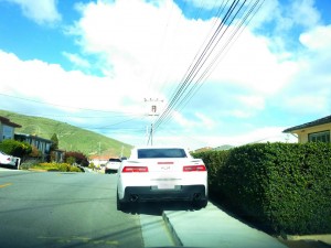
<path fill-rule="evenodd" d="M 328 0 L 0 0 L 0 109 L 132 145 L 296 142 L 330 68 Z"/>

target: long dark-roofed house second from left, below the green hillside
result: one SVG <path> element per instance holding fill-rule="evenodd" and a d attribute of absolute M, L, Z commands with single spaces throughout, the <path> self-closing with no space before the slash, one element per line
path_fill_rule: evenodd
<path fill-rule="evenodd" d="M 15 133 L 14 140 L 30 143 L 35 147 L 40 152 L 42 159 L 45 159 L 51 151 L 52 140 L 47 140 L 38 136 L 24 134 L 24 133 Z"/>

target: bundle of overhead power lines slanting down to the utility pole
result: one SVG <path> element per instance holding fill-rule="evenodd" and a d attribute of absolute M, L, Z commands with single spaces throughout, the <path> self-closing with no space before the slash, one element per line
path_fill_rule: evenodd
<path fill-rule="evenodd" d="M 169 105 L 156 121 L 154 129 L 159 128 L 161 123 L 169 121 L 171 119 L 172 112 L 184 106 L 188 100 L 192 98 L 193 94 L 197 91 L 197 89 L 201 87 L 200 83 L 205 80 L 212 69 L 214 69 L 214 65 L 216 64 L 222 53 L 224 53 L 228 45 L 231 45 L 233 41 L 236 40 L 238 33 L 242 33 L 242 28 L 245 22 L 249 20 L 248 18 L 250 17 L 252 20 L 252 18 L 256 14 L 257 10 L 263 4 L 258 4 L 260 0 L 249 1 L 248 3 L 247 0 L 242 1 L 242 3 L 239 0 L 234 0 L 232 2 L 225 15 L 222 18 L 221 23 L 209 40 L 207 44 L 204 46 L 202 52 L 200 52 L 200 55 L 196 56 L 197 58 L 193 63 L 193 66 L 191 64 L 191 66 L 189 67 L 189 71 L 184 75 L 184 79 L 182 79 L 182 83 L 179 84 L 175 93 L 171 97 Z M 228 1 L 225 6 L 227 6 L 227 3 Z M 228 33 L 229 26 L 232 26 L 232 23 L 237 19 L 239 14 L 242 14 L 243 17 L 242 21 L 237 21 L 237 24 L 235 24 L 232 33 L 229 34 L 227 40 L 225 40 L 225 44 L 221 46 L 221 51 L 216 53 L 216 56 L 211 58 L 211 55 L 215 53 L 215 48 L 220 46 L 218 43 L 226 39 L 225 34 Z M 195 83 L 193 83 L 194 80 Z"/>

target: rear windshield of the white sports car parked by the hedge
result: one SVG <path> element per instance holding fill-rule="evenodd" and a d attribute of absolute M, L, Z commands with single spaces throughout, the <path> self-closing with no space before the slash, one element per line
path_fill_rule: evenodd
<path fill-rule="evenodd" d="M 166 159 L 166 158 L 188 158 L 184 149 L 139 149 L 138 159 Z"/>

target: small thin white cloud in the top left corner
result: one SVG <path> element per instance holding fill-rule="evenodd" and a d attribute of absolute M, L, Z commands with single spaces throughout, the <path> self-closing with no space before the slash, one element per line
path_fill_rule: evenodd
<path fill-rule="evenodd" d="M 56 0 L 6 0 L 19 4 L 23 14 L 38 24 L 52 24 L 61 21 Z"/>

